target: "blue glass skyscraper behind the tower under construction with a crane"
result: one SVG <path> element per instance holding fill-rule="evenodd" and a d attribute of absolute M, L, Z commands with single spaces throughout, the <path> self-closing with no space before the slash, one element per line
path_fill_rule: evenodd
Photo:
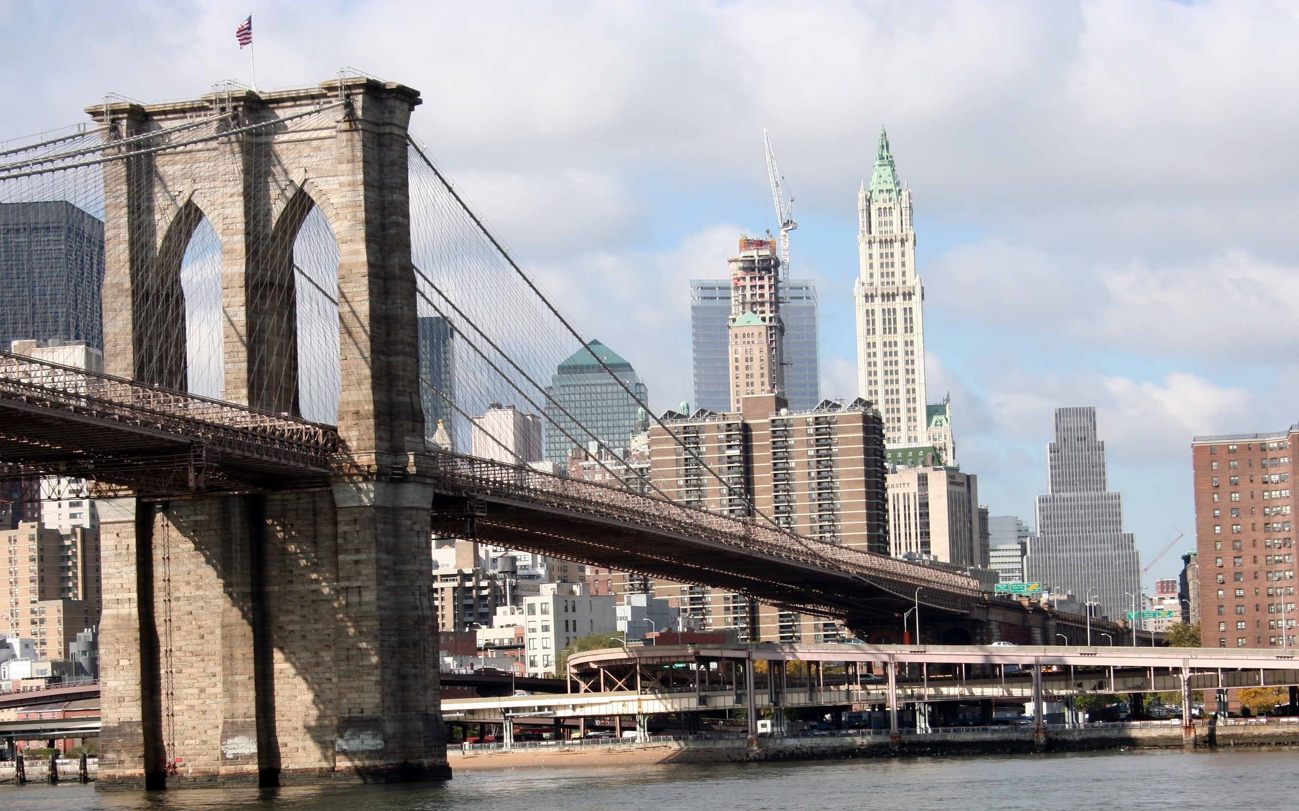
<path fill-rule="evenodd" d="M 785 322 L 785 391 L 790 407 L 814 409 L 821 402 L 821 365 L 817 336 L 817 292 L 812 279 L 788 279 L 777 291 Z M 731 313 L 730 279 L 690 280 L 690 336 L 694 350 L 695 407 L 727 411 L 727 323 Z"/>

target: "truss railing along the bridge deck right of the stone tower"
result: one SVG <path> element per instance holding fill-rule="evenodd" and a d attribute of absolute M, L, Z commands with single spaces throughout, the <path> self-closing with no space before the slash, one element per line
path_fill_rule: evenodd
<path fill-rule="evenodd" d="M 868 581 L 876 577 L 891 581 L 890 585 L 927 587 L 933 590 L 921 602 L 933 607 L 964 609 L 981 598 L 978 581 L 965 575 L 801 537 L 753 520 L 717 515 L 594 481 L 444 452 L 438 454 L 435 475 L 447 485 L 468 493 L 530 501 L 552 509 L 656 527 L 772 558 L 837 570 Z"/>

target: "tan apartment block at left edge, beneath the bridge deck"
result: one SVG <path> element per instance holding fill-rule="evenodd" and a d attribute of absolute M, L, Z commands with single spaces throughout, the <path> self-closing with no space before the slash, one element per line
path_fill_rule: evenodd
<path fill-rule="evenodd" d="M 23 523 L 0 539 L 0 571 L 8 572 L 0 632 L 35 640 L 43 659 L 68 658 L 77 633 L 99 624 L 99 535 Z"/>

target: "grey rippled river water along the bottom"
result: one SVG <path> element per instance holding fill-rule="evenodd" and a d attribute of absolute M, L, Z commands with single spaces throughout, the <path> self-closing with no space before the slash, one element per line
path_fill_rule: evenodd
<path fill-rule="evenodd" d="M 1299 808 L 1299 751 L 1104 751 L 461 772 L 446 784 L 97 794 L 0 786 L 5 811 Z"/>

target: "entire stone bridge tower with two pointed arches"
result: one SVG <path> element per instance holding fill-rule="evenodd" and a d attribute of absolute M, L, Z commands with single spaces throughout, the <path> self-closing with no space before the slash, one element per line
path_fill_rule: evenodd
<path fill-rule="evenodd" d="M 344 448 L 327 489 L 100 503 L 100 789 L 451 776 L 416 394 L 418 104 L 342 78 L 87 110 L 112 139 L 213 114 L 231 131 L 105 163 L 108 371 L 184 388 L 183 308 L 158 302 L 179 293 L 177 247 L 201 214 L 221 239 L 225 400 L 295 413 L 294 314 L 264 295 L 291 289 L 314 206 L 339 247 Z"/>

